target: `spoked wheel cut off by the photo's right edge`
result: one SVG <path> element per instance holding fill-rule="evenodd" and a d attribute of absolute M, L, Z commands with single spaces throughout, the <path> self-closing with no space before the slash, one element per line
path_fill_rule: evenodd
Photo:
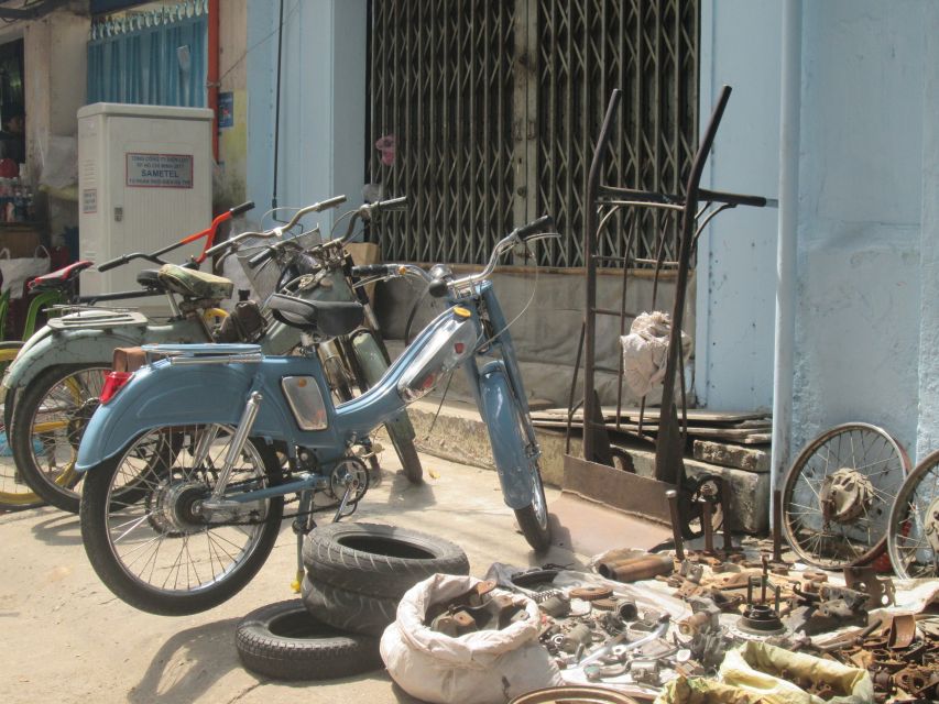
<path fill-rule="evenodd" d="M 906 477 L 889 514 L 887 549 L 904 579 L 939 576 L 939 451 Z"/>

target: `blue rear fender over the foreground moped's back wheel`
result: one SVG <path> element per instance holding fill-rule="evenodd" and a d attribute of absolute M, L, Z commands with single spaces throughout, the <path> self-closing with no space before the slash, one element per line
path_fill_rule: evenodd
<path fill-rule="evenodd" d="M 85 472 L 121 451 L 145 430 L 164 426 L 219 424 L 237 426 L 249 393 L 261 393 L 251 435 L 283 440 L 296 426 L 277 400 L 282 376 L 309 375 L 303 358 L 266 358 L 258 364 L 171 365 L 167 361 L 138 370 L 110 402 L 100 406 L 85 429 L 75 469 Z M 329 407 L 331 409 L 331 406 Z M 330 427 L 331 427 L 330 422 Z M 324 439 L 329 431 L 321 431 Z"/>

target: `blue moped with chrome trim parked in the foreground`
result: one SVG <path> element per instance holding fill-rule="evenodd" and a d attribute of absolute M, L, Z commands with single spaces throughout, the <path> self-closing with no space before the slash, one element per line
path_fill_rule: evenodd
<path fill-rule="evenodd" d="M 301 296 L 269 299 L 273 315 L 299 329 L 294 356 L 258 345 L 154 345 L 166 355 L 130 380 L 109 376 L 85 431 L 76 469 L 88 472 L 81 536 L 92 566 L 127 603 L 183 615 L 220 604 L 264 563 L 297 495 L 298 540 L 312 529 L 315 499 L 338 499 L 334 520 L 362 498 L 369 474 L 359 443 L 407 404 L 462 367 L 489 429 L 505 503 L 528 543 L 548 547 L 550 529 L 539 450 L 505 317 L 489 278 L 499 257 L 552 234 L 544 217 L 501 240 L 479 274 L 455 277 L 445 265 L 357 267 L 370 279 L 416 276 L 448 306 L 369 391 L 334 405 L 318 340 L 362 321 L 358 301 Z M 525 239 L 527 238 L 527 239 Z M 259 263 L 264 253 L 259 255 Z M 279 461 L 277 452 L 286 454 Z"/>

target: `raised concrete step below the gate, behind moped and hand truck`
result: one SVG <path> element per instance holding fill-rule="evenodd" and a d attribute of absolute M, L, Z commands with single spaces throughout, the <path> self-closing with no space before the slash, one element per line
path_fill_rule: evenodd
<path fill-rule="evenodd" d="M 489 435 L 474 404 L 452 399 L 425 398 L 408 407 L 408 415 L 417 433 L 418 450 L 445 460 L 495 470 Z M 564 488 L 564 455 L 580 457 L 579 438 L 571 438 L 567 448 L 565 433 L 537 430 L 542 449 L 541 470 L 545 483 Z M 652 446 L 624 447 L 636 474 L 655 475 L 655 449 Z M 769 475 L 749 472 L 685 458 L 688 474 L 714 474 L 724 479 L 730 487 L 731 529 L 738 532 L 762 535 L 769 525 Z M 616 508 L 616 506 L 613 506 Z M 625 508 L 625 507 L 620 507 Z"/>

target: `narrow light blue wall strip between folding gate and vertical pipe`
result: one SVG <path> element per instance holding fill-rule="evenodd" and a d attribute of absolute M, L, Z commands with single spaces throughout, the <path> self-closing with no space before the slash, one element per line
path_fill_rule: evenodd
<path fill-rule="evenodd" d="M 777 195 L 779 42 L 777 0 L 702 3 L 702 132 L 721 87 L 733 88 L 703 180 L 711 188 Z M 708 408 L 772 407 L 776 230 L 775 209 L 736 208 L 699 242 L 695 388 Z"/>

